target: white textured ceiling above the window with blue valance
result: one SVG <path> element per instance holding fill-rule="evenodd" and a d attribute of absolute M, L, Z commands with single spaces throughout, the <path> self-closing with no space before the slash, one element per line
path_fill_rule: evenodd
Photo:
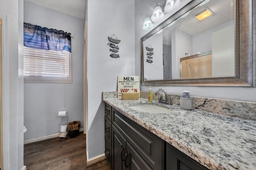
<path fill-rule="evenodd" d="M 24 0 L 84 20 L 85 0 Z"/>

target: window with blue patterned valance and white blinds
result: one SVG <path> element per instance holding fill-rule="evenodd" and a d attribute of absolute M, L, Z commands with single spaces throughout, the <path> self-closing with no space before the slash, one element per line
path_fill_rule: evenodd
<path fill-rule="evenodd" d="M 24 82 L 72 83 L 71 33 L 24 22 Z"/>

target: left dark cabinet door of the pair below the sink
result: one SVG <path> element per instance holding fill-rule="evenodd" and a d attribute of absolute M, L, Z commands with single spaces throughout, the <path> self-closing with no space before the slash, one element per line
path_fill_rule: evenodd
<path fill-rule="evenodd" d="M 124 156 L 126 154 L 126 140 L 114 126 L 112 126 L 112 129 L 112 170 L 125 170 Z"/>

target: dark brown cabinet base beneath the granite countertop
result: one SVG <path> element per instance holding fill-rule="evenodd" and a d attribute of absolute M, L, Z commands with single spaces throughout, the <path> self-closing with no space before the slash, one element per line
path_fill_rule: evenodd
<path fill-rule="evenodd" d="M 112 170 L 208 170 L 108 104 L 105 149 Z"/>

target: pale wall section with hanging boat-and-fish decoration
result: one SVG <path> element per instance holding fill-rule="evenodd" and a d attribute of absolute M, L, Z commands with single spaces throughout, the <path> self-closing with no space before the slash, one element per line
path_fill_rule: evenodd
<path fill-rule="evenodd" d="M 102 91 L 117 90 L 118 75 L 134 75 L 134 0 L 88 0 L 88 142 L 87 158 L 104 154 Z M 121 42 L 112 58 L 108 36 Z"/>

